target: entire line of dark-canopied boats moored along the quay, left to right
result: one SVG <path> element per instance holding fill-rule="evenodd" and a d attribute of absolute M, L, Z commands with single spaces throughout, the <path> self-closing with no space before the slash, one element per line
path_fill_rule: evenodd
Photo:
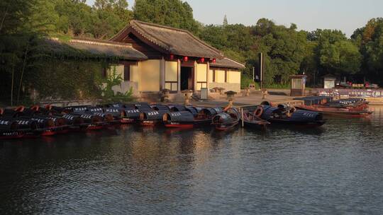
<path fill-rule="evenodd" d="M 337 101 L 327 97 L 301 99 L 304 100 L 304 105 L 298 105 L 296 108 L 283 104 L 274 107 L 267 102 L 240 109 L 157 103 L 0 108 L 0 139 L 89 132 L 113 125 L 133 123 L 143 127 L 165 126 L 181 129 L 213 125 L 215 129 L 221 131 L 233 129 L 240 123 L 250 129 L 265 129 L 269 124 L 318 127 L 326 122 L 323 120 L 323 114 L 331 112 L 330 110 L 334 108 L 336 113 L 343 115 L 371 113 L 367 110 L 367 102 L 362 99 Z"/>

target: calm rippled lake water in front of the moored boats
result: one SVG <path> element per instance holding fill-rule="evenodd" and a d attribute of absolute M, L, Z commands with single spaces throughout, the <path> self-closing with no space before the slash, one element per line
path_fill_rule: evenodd
<path fill-rule="evenodd" d="M 133 126 L 0 144 L 0 214 L 382 214 L 383 108 L 319 129 Z"/>

